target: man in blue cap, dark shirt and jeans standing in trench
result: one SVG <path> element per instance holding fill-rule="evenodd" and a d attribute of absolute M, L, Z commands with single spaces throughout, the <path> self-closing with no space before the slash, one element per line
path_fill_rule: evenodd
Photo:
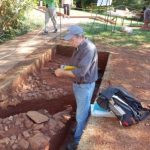
<path fill-rule="evenodd" d="M 75 150 L 90 113 L 91 98 L 95 81 L 98 79 L 98 55 L 95 45 L 84 37 L 83 29 L 80 26 L 70 26 L 64 39 L 76 47 L 69 64 L 75 66 L 76 69 L 66 71 L 60 68 L 55 70 L 55 74 L 57 77 L 70 77 L 73 79 L 73 92 L 77 104 L 77 124 L 74 140 L 68 144 L 67 149 Z"/>

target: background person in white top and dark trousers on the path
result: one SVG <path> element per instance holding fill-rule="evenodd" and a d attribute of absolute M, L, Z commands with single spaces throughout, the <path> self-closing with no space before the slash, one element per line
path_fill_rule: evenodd
<path fill-rule="evenodd" d="M 64 8 L 64 17 L 69 17 L 70 16 L 70 9 L 73 4 L 72 0 L 62 0 L 62 6 Z"/>

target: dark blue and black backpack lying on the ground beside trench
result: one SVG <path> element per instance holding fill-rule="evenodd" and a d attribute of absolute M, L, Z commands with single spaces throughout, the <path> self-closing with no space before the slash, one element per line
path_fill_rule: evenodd
<path fill-rule="evenodd" d="M 125 127 L 138 123 L 150 114 L 150 109 L 143 108 L 134 96 L 120 87 L 108 87 L 98 93 L 96 101 L 101 107 L 112 111 Z"/>

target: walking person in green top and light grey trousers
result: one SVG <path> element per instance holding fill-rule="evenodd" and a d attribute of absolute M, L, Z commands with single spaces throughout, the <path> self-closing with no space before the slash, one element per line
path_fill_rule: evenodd
<path fill-rule="evenodd" d="M 57 21 L 56 21 L 56 8 L 55 8 L 55 1 L 54 0 L 44 0 L 46 4 L 46 12 L 45 12 L 45 29 L 44 33 L 48 34 L 49 29 L 49 20 L 51 19 L 53 23 L 54 30 L 53 33 L 57 32 Z"/>

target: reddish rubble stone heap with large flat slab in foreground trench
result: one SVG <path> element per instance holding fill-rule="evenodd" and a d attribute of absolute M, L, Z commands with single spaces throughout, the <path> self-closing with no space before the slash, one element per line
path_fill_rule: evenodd
<path fill-rule="evenodd" d="M 0 119 L 0 150 L 49 150 L 51 140 L 70 120 L 71 108 L 50 115 L 29 111 Z"/>

